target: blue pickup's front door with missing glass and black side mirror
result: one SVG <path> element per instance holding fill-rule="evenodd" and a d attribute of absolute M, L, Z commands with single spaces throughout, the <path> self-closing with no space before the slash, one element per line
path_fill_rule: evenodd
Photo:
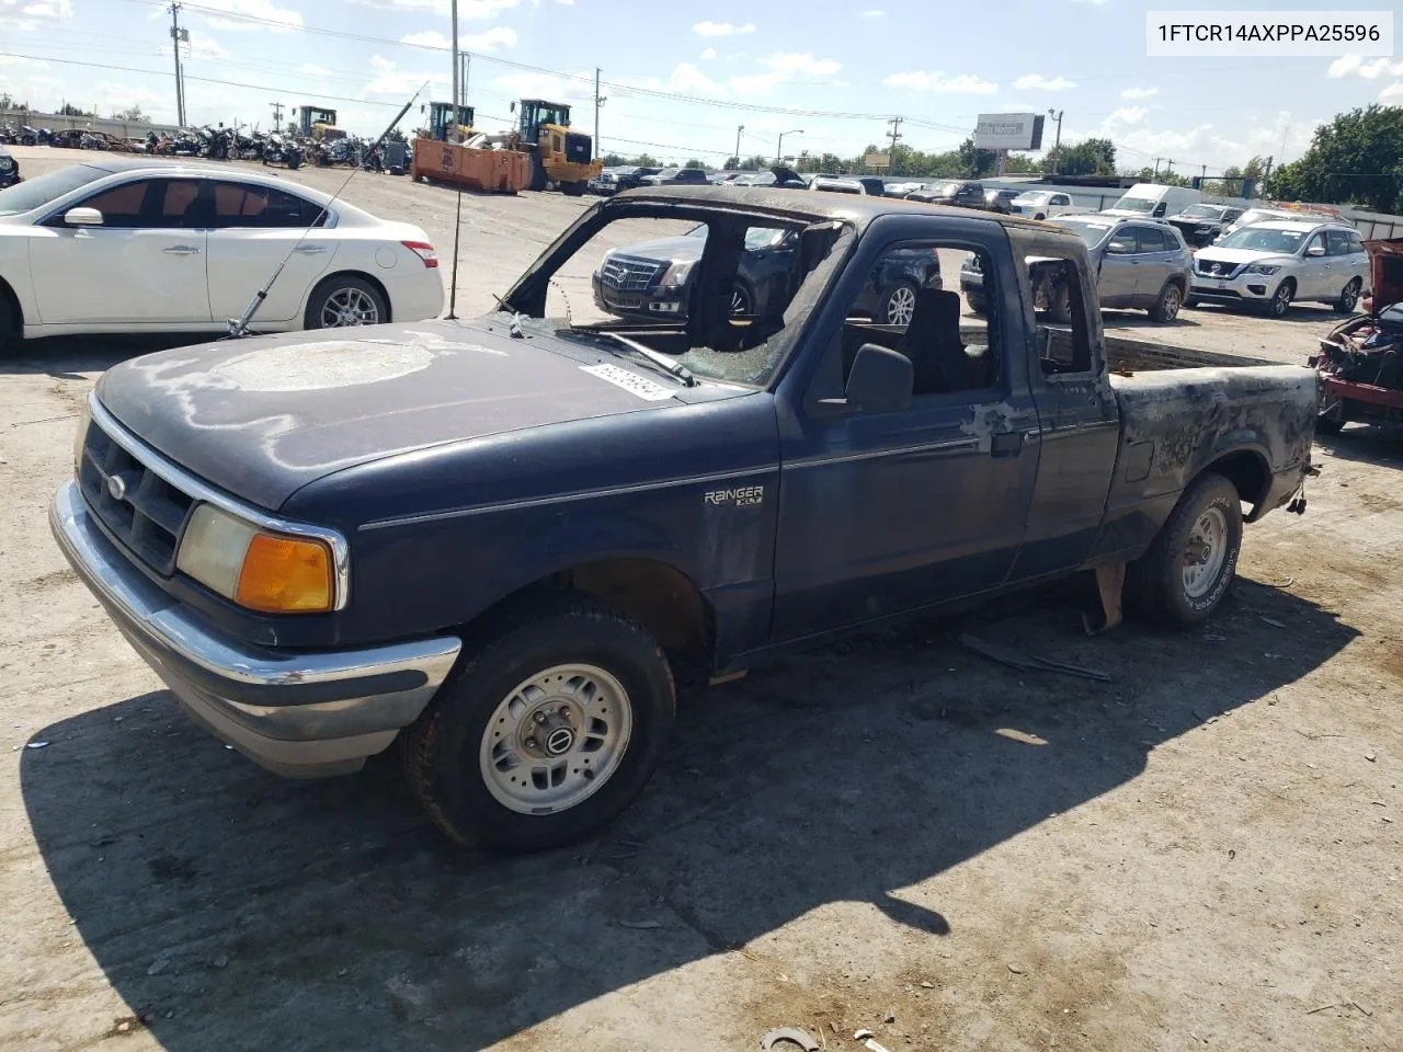
<path fill-rule="evenodd" d="M 880 237 L 884 227 L 892 234 Z M 1017 554 L 1037 474 L 1026 433 L 1037 417 L 1017 367 L 1026 355 L 1021 346 L 1010 355 L 1023 334 L 1007 324 L 1017 320 L 1007 243 L 988 220 L 941 219 L 948 236 L 895 236 L 930 229 L 929 219 L 913 226 L 904 216 L 873 224 L 815 323 L 817 365 L 786 391 L 776 642 L 992 589 Z M 941 289 L 929 265 L 934 252 L 955 274 L 971 251 L 984 268 L 988 323 L 961 317 L 960 293 Z M 915 290 L 909 324 L 881 324 L 885 293 L 873 295 L 874 282 Z M 819 404 L 842 396 L 864 344 L 912 360 L 908 408 Z"/>

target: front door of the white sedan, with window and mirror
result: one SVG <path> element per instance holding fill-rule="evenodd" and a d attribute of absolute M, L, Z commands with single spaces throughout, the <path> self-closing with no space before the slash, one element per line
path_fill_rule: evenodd
<path fill-rule="evenodd" d="M 102 226 L 69 227 L 56 216 L 35 227 L 29 272 L 41 321 L 208 324 L 205 231 L 187 226 L 198 185 L 136 180 L 74 205 L 102 212 Z"/>

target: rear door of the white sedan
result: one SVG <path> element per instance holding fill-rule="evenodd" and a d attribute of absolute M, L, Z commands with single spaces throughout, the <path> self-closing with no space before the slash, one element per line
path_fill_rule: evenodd
<path fill-rule="evenodd" d="M 331 265 L 337 241 L 314 226 L 321 209 L 293 194 L 234 181 L 212 184 L 209 306 L 216 320 L 244 313 L 278 264 L 282 274 L 258 307 L 258 321 L 300 318 L 309 289 Z"/>

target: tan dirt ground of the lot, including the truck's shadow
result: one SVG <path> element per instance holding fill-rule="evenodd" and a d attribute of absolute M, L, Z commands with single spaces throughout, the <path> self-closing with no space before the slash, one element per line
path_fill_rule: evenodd
<path fill-rule="evenodd" d="M 448 254 L 452 194 L 347 196 Z M 582 206 L 464 196 L 460 313 Z M 1108 324 L 1287 362 L 1334 321 L 1141 318 Z M 791 658 L 685 694 L 600 837 L 501 861 L 393 763 L 283 781 L 195 729 L 66 568 L 77 405 L 142 349 L 0 362 L 4 1048 L 1403 1049 L 1403 439 L 1317 445 L 1309 511 L 1249 527 L 1201 631 L 1086 638 L 1076 581 Z"/>

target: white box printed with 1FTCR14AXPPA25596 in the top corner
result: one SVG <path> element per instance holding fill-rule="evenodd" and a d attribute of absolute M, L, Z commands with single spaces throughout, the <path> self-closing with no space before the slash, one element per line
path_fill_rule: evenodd
<path fill-rule="evenodd" d="M 1392 58 L 1393 11 L 1146 11 L 1149 58 Z"/>

